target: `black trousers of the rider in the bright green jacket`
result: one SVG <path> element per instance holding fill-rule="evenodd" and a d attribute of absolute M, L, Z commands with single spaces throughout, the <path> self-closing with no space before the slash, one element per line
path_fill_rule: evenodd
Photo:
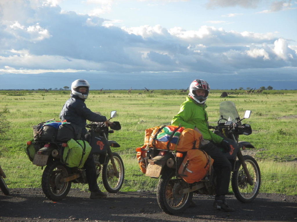
<path fill-rule="evenodd" d="M 231 174 L 231 163 L 219 150 L 219 148 L 209 142 L 208 144 L 199 147 L 204 150 L 208 155 L 214 159 L 214 171 L 217 175 L 217 195 L 225 195 L 229 190 L 230 174 Z"/>

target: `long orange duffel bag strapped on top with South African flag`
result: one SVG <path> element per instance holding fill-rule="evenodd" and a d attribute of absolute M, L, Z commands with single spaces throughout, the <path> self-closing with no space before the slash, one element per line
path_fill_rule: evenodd
<path fill-rule="evenodd" d="M 144 146 L 156 149 L 186 152 L 199 148 L 200 133 L 179 126 L 156 126 L 146 129 Z"/>

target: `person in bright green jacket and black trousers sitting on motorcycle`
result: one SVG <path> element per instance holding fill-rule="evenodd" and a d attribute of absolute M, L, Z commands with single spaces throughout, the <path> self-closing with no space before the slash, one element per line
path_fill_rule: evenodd
<path fill-rule="evenodd" d="M 205 101 L 210 90 L 208 83 L 202 79 L 195 79 L 189 90 L 189 97 L 181 104 L 181 108 L 178 114 L 173 117 L 171 124 L 194 129 L 202 134 L 199 138 L 199 148 L 214 159 L 213 166 L 217 174 L 217 189 L 213 206 L 218 210 L 232 212 L 234 209 L 229 207 L 225 200 L 225 194 L 229 190 L 231 163 L 220 151 L 221 149 L 229 152 L 232 141 L 222 138 L 208 129 L 208 115 L 205 110 L 207 107 Z"/>

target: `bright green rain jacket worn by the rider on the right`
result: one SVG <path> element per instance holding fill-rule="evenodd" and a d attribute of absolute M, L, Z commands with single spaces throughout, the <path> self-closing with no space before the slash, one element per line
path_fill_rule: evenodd
<path fill-rule="evenodd" d="M 182 127 L 189 129 L 197 127 L 202 133 L 203 139 L 211 140 L 214 143 L 220 143 L 223 138 L 208 129 L 206 107 L 206 105 L 198 104 L 190 97 L 187 97 L 186 101 L 181 104 L 181 109 L 178 114 L 171 120 L 171 124 L 173 126 L 179 126 L 179 124 L 181 124 Z"/>

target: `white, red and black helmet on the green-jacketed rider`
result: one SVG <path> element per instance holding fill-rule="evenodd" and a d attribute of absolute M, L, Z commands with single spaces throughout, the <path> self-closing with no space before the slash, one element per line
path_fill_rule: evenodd
<path fill-rule="evenodd" d="M 195 93 L 195 90 L 198 89 L 204 89 L 206 90 L 205 96 L 197 96 Z M 203 79 L 195 79 L 191 85 L 190 85 L 190 89 L 189 89 L 189 96 L 197 103 L 199 104 L 203 104 L 205 103 L 207 96 L 209 94 L 209 90 L 210 87 L 208 85 L 208 83 L 206 81 L 204 81 Z"/>

